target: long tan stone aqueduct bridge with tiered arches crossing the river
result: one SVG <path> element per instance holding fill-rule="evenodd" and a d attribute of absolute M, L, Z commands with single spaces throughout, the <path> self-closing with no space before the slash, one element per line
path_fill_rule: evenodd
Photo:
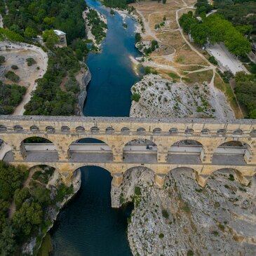
<path fill-rule="evenodd" d="M 50 140 L 56 151 L 44 152 L 45 154 L 41 152 L 45 158 L 38 159 L 36 156 L 39 152 L 28 157 L 23 141 L 29 137 Z M 110 147 L 111 152 L 83 152 L 79 157 L 73 157 L 70 145 L 86 137 L 102 140 Z M 123 147 L 137 139 L 151 140 L 156 144 L 157 152 L 129 152 L 126 156 Z M 165 175 L 175 168 L 193 169 L 201 186 L 206 184 L 206 179 L 213 172 L 223 168 L 234 169 L 238 180 L 243 184 L 248 184 L 250 177 L 256 173 L 256 120 L 0 116 L 0 140 L 4 141 L 4 147 L 8 147 L 9 151 L 4 161 L 29 168 L 42 164 L 53 166 L 66 184 L 70 184 L 74 171 L 81 166 L 105 168 L 112 174 L 113 184 L 116 186 L 121 184 L 126 170 L 136 166 L 153 170 L 159 187 L 163 186 Z M 197 156 L 184 152 L 172 154 L 170 146 L 181 140 L 199 142 L 201 153 Z M 244 154 L 215 155 L 221 144 L 232 141 L 243 143 Z M 57 159 L 48 157 L 49 154 L 57 153 Z"/>

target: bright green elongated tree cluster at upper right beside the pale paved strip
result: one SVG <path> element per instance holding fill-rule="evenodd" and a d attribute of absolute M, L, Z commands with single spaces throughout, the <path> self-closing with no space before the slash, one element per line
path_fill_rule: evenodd
<path fill-rule="evenodd" d="M 234 27 L 231 22 L 224 20 L 220 15 L 210 15 L 204 17 L 202 22 L 198 22 L 189 11 L 180 18 L 180 25 L 184 32 L 191 33 L 194 42 L 199 46 L 207 43 L 224 42 L 228 50 L 235 55 L 246 55 L 250 53 L 250 41 Z"/>

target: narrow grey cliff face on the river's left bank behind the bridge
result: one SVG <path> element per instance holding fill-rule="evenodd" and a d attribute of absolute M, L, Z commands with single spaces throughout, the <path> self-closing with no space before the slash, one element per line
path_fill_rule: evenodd
<path fill-rule="evenodd" d="M 90 74 L 89 68 L 86 66 L 86 69 L 83 69 L 77 74 L 76 80 L 79 82 L 80 85 L 80 93 L 78 97 L 78 106 L 77 106 L 77 115 L 83 116 L 83 105 L 86 101 L 87 96 L 87 86 L 90 82 L 92 75 Z"/>

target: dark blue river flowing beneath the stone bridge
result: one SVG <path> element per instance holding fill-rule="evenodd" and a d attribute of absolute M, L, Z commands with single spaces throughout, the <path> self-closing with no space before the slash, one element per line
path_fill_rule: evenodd
<path fill-rule="evenodd" d="M 135 21 L 123 19 L 99 2 L 87 0 L 91 8 L 107 16 L 107 36 L 102 53 L 90 53 L 86 60 L 92 80 L 83 108 L 85 116 L 128 116 L 130 87 L 140 76 L 135 74 L 129 56 L 140 55 L 134 46 Z M 104 169 L 81 168 L 81 189 L 63 209 L 51 235 L 54 255 L 58 256 L 130 256 L 127 239 L 127 217 L 130 206 L 111 208 L 111 175 Z"/>

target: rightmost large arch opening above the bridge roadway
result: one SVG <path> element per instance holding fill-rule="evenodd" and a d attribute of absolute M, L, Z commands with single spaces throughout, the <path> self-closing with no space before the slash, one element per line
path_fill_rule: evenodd
<path fill-rule="evenodd" d="M 220 156 L 224 156 L 225 158 L 229 157 L 229 159 L 233 157 L 235 161 L 238 161 L 239 155 L 242 156 L 242 159 L 246 163 L 250 163 L 253 155 L 251 144 L 244 140 L 234 140 L 234 137 L 229 137 L 215 147 L 213 151 L 213 161 L 217 163 Z M 237 156 L 237 158 L 235 156 Z"/>

